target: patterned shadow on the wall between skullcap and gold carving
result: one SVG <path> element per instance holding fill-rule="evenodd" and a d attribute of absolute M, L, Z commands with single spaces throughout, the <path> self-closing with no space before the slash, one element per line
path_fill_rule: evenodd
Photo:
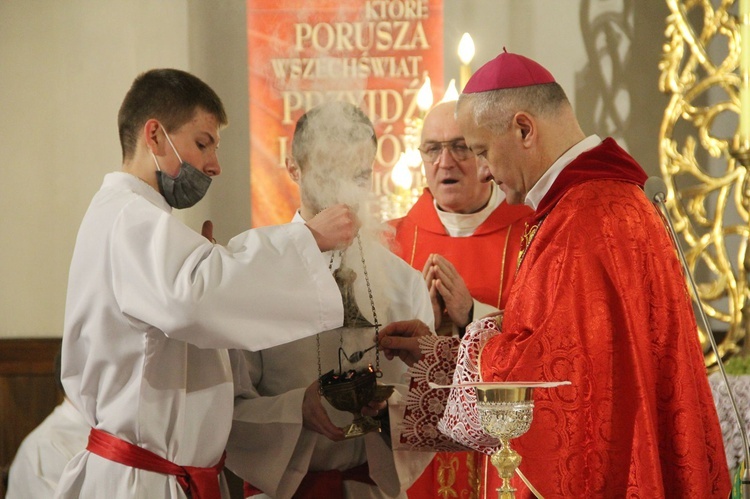
<path fill-rule="evenodd" d="M 581 126 L 615 138 L 649 175 L 659 172 L 659 127 L 668 102 L 658 87 L 668 15 L 663 2 L 637 0 L 582 0 L 579 12 L 588 57 L 576 74 Z"/>

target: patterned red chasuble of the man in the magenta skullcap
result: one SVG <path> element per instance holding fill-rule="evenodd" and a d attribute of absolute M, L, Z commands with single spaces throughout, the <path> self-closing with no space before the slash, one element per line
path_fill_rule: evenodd
<path fill-rule="evenodd" d="M 484 381 L 572 382 L 536 390 L 512 441 L 545 498 L 729 494 L 690 296 L 645 179 L 611 139 L 563 170 L 482 351 Z"/>

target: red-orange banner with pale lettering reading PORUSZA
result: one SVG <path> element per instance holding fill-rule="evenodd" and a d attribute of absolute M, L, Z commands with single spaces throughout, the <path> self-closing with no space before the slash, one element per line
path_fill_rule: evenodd
<path fill-rule="evenodd" d="M 286 223 L 299 206 L 284 160 L 297 119 L 327 99 L 375 124 L 373 189 L 389 195 L 425 77 L 442 92 L 442 0 L 248 0 L 247 27 L 253 226 Z"/>

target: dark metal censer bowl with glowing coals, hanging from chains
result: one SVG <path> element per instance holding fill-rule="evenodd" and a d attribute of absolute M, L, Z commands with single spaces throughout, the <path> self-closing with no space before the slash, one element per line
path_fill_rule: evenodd
<path fill-rule="evenodd" d="M 342 428 L 345 438 L 361 437 L 380 431 L 380 421 L 362 415 L 362 408 L 370 402 L 382 402 L 393 393 L 394 387 L 380 385 L 378 373 L 372 366 L 362 371 L 335 374 L 329 371 L 320 377 L 320 390 L 329 404 L 340 411 L 351 412 L 354 420 Z"/>

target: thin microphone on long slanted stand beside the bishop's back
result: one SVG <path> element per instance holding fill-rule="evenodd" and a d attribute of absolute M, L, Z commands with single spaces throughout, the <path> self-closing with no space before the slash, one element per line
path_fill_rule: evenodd
<path fill-rule="evenodd" d="M 750 469 L 748 469 L 748 467 L 750 466 L 750 446 L 748 446 L 747 431 L 745 430 L 745 424 L 742 420 L 742 414 L 737 408 L 737 402 L 734 400 L 732 387 L 729 386 L 729 379 L 727 379 L 727 373 L 724 370 L 724 363 L 721 361 L 721 355 L 719 355 L 719 347 L 716 346 L 716 338 L 714 337 L 714 332 L 708 323 L 708 317 L 706 317 L 706 312 L 705 310 L 703 310 L 703 306 L 701 305 L 698 298 L 698 287 L 695 284 L 693 275 L 690 273 L 690 268 L 688 267 L 687 260 L 685 259 L 685 253 L 683 253 L 682 251 L 682 247 L 680 246 L 679 240 L 677 239 L 677 234 L 674 230 L 674 225 L 672 224 L 672 217 L 669 215 L 669 210 L 667 210 L 667 206 L 665 204 L 667 200 L 667 184 L 664 183 L 664 180 L 662 180 L 661 177 L 649 177 L 643 186 L 643 191 L 646 193 L 646 196 L 648 196 L 648 198 L 653 201 L 654 204 L 656 204 L 662 214 L 662 218 L 666 220 L 669 234 L 672 237 L 672 243 L 677 248 L 677 253 L 680 257 L 682 270 L 683 272 L 685 272 L 685 276 L 687 277 L 688 283 L 690 284 L 690 290 L 693 292 L 693 298 L 698 301 L 698 306 L 695 308 L 697 308 L 699 311 L 698 315 L 700 316 L 699 318 L 703 325 L 703 329 L 704 331 L 706 331 L 708 340 L 711 343 L 711 349 L 713 350 L 714 355 L 716 355 L 716 364 L 719 366 L 721 379 L 724 382 L 724 385 L 727 387 L 727 392 L 729 393 L 729 401 L 732 403 L 732 409 L 734 411 L 734 417 L 737 420 L 737 426 L 739 426 L 740 428 L 740 436 L 742 437 L 742 447 L 745 457 L 745 472 L 742 475 L 742 485 L 740 487 L 740 493 L 742 498 L 750 499 Z"/>

